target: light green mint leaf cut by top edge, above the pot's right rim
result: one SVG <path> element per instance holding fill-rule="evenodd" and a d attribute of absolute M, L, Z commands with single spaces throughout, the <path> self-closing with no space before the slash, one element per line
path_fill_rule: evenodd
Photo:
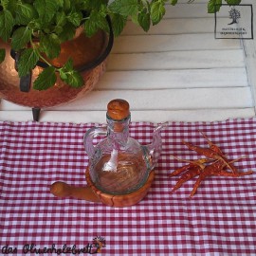
<path fill-rule="evenodd" d="M 122 16 L 137 14 L 137 0 L 115 0 L 109 5 L 110 11 Z"/>

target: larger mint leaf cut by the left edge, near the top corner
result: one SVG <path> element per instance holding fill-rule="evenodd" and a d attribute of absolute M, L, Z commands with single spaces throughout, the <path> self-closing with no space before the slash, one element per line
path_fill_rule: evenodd
<path fill-rule="evenodd" d="M 0 12 L 0 37 L 7 42 L 10 37 L 12 27 L 14 26 L 14 19 L 8 9 Z"/>

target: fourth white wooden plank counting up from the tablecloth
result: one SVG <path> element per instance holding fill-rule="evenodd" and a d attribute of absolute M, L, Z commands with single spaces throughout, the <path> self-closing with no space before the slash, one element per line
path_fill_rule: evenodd
<path fill-rule="evenodd" d="M 159 70 L 213 67 L 243 67 L 242 50 L 171 51 L 111 54 L 108 70 Z"/>

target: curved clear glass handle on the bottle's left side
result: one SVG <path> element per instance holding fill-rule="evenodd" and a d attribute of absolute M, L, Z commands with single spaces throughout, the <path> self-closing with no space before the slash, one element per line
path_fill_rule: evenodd
<path fill-rule="evenodd" d="M 93 145 L 93 138 L 98 136 L 107 136 L 107 127 L 93 127 L 90 128 L 83 137 L 83 145 L 87 155 L 91 158 L 95 153 Z"/>

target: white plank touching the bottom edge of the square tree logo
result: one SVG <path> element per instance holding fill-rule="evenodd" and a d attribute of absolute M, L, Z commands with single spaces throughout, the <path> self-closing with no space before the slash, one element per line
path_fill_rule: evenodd
<path fill-rule="evenodd" d="M 238 49 L 238 40 L 215 40 L 212 34 L 120 36 L 112 53 L 161 52 L 171 50 Z"/>

